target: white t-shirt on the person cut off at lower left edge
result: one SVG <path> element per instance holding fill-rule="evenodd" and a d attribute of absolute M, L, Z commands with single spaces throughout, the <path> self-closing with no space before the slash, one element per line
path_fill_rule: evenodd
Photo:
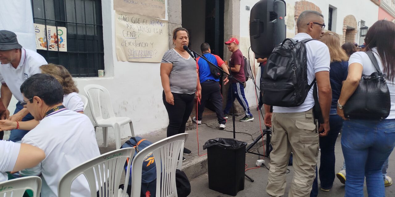
<path fill-rule="evenodd" d="M 0 182 L 8 180 L 6 172 L 14 169 L 20 149 L 20 143 L 0 140 Z"/>

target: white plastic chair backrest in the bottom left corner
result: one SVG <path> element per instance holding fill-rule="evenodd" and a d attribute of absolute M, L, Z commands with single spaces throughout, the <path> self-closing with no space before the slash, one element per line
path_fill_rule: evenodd
<path fill-rule="evenodd" d="M 33 197 L 40 197 L 41 178 L 36 176 L 22 177 L 0 183 L 1 197 L 23 197 L 26 190 L 32 190 Z"/>

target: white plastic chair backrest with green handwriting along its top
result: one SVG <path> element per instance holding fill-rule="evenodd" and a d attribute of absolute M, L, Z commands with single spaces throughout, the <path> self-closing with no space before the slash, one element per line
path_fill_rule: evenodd
<path fill-rule="evenodd" d="M 128 170 L 123 184 L 128 184 L 132 161 L 130 158 L 134 151 L 134 148 L 125 148 L 107 152 L 69 170 L 60 179 L 58 197 L 70 197 L 73 180 L 82 174 L 88 180 L 91 197 L 96 197 L 97 191 L 99 191 L 99 197 L 118 197 L 119 185 L 127 158 L 129 158 Z M 126 190 L 122 193 L 122 197 L 125 196 Z"/>

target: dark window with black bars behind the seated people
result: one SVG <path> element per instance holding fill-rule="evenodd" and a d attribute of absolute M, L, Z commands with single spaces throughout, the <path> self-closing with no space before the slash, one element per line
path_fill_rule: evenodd
<path fill-rule="evenodd" d="M 33 21 L 66 27 L 67 52 L 37 50 L 48 63 L 63 65 L 73 77 L 95 77 L 104 69 L 100 0 L 31 0 Z"/>

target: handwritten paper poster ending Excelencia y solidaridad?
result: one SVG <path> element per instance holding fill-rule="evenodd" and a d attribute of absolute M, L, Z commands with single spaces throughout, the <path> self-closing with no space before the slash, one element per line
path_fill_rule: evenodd
<path fill-rule="evenodd" d="M 115 11 L 118 61 L 160 62 L 169 46 L 167 21 Z"/>

